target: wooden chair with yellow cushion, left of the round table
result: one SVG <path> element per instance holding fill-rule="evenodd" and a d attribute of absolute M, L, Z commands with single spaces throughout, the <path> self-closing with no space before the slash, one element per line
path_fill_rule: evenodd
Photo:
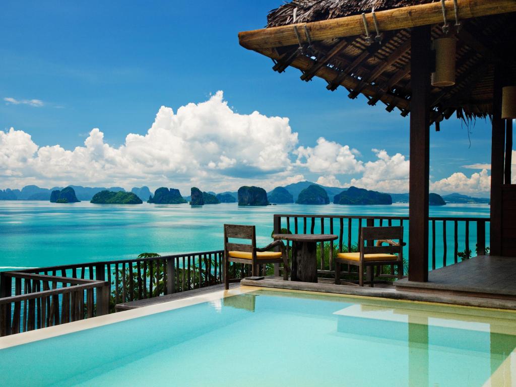
<path fill-rule="evenodd" d="M 229 238 L 250 239 L 250 244 L 230 243 Z M 268 251 L 279 247 L 280 251 Z M 224 224 L 224 286 L 229 289 L 230 282 L 241 279 L 229 279 L 229 262 L 251 265 L 252 276 L 258 275 L 258 265 L 283 263 L 283 279 L 288 280 L 288 262 L 285 245 L 275 240 L 264 248 L 256 247 L 256 228 L 253 225 Z"/>

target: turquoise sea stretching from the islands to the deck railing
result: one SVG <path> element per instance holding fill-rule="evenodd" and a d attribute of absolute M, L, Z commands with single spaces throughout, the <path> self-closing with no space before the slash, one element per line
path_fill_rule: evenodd
<path fill-rule="evenodd" d="M 489 205 L 485 204 L 447 204 L 430 207 L 430 216 L 487 218 L 489 211 Z M 223 248 L 224 223 L 256 225 L 257 243 L 266 245 L 271 241 L 273 214 L 408 216 L 408 204 L 239 207 L 236 203 L 223 203 L 190 207 L 188 204 L 0 201 L 0 271 L 134 258 L 142 252 L 166 255 L 219 250 Z M 320 224 L 316 223 L 315 232 Z M 337 234 L 338 221 L 334 227 Z M 451 263 L 454 259 L 453 224 L 448 223 L 447 227 L 447 262 Z M 436 240 L 440 241 L 436 249 L 439 267 L 443 254 L 442 227 L 437 224 L 436 228 Z M 357 229 L 358 222 L 354 222 L 354 240 Z M 325 230 L 328 233 L 329 225 Z M 475 231 L 473 223 L 470 225 L 472 250 L 476 243 Z M 489 238 L 489 227 L 486 234 Z M 463 235 L 462 224 L 459 226 L 459 251 L 464 250 Z"/>

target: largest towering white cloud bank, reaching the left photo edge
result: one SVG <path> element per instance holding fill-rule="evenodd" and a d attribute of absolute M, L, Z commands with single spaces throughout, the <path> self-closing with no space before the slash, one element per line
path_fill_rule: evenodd
<path fill-rule="evenodd" d="M 0 132 L 3 185 L 133 184 L 225 189 L 256 179 L 285 180 L 298 142 L 287 118 L 235 113 L 217 92 L 208 101 L 162 106 L 145 135 L 128 134 L 116 148 L 94 128 L 84 146 L 38 147 L 23 131 Z M 227 187 L 228 179 L 238 179 Z M 231 180 L 230 179 L 230 180 Z"/>

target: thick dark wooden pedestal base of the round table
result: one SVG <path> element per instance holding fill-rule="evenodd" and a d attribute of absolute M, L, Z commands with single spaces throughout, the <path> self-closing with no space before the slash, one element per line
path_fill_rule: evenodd
<path fill-rule="evenodd" d="M 317 282 L 316 242 L 293 241 L 292 281 Z"/>

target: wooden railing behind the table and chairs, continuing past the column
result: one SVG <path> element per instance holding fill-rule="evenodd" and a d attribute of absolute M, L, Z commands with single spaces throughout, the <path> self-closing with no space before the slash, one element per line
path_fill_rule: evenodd
<path fill-rule="evenodd" d="M 362 227 L 403 225 L 404 240 L 409 241 L 407 216 L 348 216 L 348 215 L 298 215 L 275 214 L 274 232 L 287 229 L 294 234 L 335 234 L 338 239 L 330 242 L 328 246 L 320 245 L 318 254 L 319 272 L 333 272 L 333 258 L 335 252 L 351 251 L 358 246 L 359 235 Z M 431 268 L 455 264 L 464 258 L 480 255 L 486 251 L 486 225 L 489 218 L 460 218 L 460 217 L 430 217 L 429 261 Z M 474 224 L 472 229 L 471 224 Z M 448 228 L 453 225 L 453 231 Z M 448 248 L 448 245 L 450 248 Z M 451 250 L 453 246 L 453 250 Z M 404 256 L 408 257 L 408 246 L 405 247 Z M 329 251 L 328 251 L 329 250 Z M 453 251 L 453 254 L 450 252 Z M 442 255 L 438 254 L 442 253 Z M 410 257 L 408 257 L 410 259 Z M 278 266 L 275 273 L 279 275 Z"/>

